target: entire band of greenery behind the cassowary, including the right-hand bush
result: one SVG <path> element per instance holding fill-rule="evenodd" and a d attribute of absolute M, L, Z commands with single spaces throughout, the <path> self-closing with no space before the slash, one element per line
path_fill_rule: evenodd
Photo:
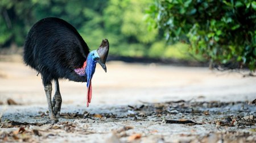
<path fill-rule="evenodd" d="M 1 49 L 22 47 L 36 21 L 54 16 L 71 23 L 91 49 L 108 38 L 112 58 L 255 69 L 255 1 L 1 0 L 0 11 Z"/>

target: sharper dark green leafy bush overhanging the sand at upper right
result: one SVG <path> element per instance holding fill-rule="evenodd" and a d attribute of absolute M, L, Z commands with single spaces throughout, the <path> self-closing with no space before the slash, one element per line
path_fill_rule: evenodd
<path fill-rule="evenodd" d="M 191 51 L 217 64 L 256 67 L 256 2 L 155 1 L 147 14 L 151 27 L 163 29 L 171 44 L 185 41 Z"/>

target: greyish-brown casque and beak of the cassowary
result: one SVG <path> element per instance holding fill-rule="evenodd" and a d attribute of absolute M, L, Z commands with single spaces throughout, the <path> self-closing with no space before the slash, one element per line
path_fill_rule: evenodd
<path fill-rule="evenodd" d="M 107 39 L 102 40 L 100 47 L 98 47 L 97 53 L 100 56 L 100 59 L 98 59 L 97 62 L 106 72 L 106 59 L 108 58 L 109 54 L 109 41 Z"/>

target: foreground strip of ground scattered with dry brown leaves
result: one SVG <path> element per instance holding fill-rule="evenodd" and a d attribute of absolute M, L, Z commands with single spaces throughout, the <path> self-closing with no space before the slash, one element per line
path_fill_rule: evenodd
<path fill-rule="evenodd" d="M 0 142 L 40 142 L 46 138 L 61 137 L 65 133 L 76 133 L 76 135 L 81 136 L 111 133 L 113 136 L 107 140 L 120 142 L 143 141 L 152 135 L 157 135 L 156 137 L 160 137 L 159 140 L 164 142 L 168 141 L 168 136 L 172 134 L 167 135 L 161 132 L 158 127 L 165 128 L 168 127 L 168 124 L 173 124 L 173 127 L 177 128 L 192 127 L 189 132 L 179 132 L 177 134 L 178 142 L 184 137 L 188 138 L 186 139 L 189 140 L 188 142 L 213 140 L 210 138 L 217 138 L 216 141 L 225 140 L 228 142 L 240 140 L 254 142 L 256 140 L 256 106 L 249 102 L 182 100 L 163 103 L 143 102 L 142 105 L 108 107 L 108 109 L 109 112 L 103 112 L 104 110 L 102 112 L 63 112 L 59 116 L 61 121 L 57 124 L 9 120 L 8 115 L 3 114 L 0 123 Z M 37 115 L 31 116 L 31 118 L 47 120 L 48 114 L 41 111 Z M 102 131 L 93 128 L 98 124 L 106 123 L 112 124 L 112 127 Z M 180 126 L 181 124 L 185 126 Z M 147 126 L 151 127 L 152 125 L 155 125 L 156 128 L 147 128 Z M 204 133 L 203 136 L 196 133 L 196 128 L 205 128 L 207 125 L 215 129 Z M 146 129 L 142 132 L 138 129 L 139 127 Z"/>

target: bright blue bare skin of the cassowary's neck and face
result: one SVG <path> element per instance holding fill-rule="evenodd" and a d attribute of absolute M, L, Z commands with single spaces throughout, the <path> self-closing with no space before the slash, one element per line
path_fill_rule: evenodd
<path fill-rule="evenodd" d="M 86 67 L 85 67 L 85 73 L 87 76 L 87 88 L 90 85 L 90 80 L 92 80 L 93 74 L 95 72 L 97 58 L 100 58 L 97 51 L 93 50 L 88 54 L 87 60 L 86 60 Z"/>

